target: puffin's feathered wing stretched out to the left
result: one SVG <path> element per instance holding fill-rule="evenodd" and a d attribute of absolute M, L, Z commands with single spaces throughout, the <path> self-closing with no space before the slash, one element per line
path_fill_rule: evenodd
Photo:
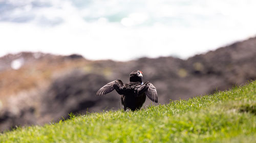
<path fill-rule="evenodd" d="M 96 96 L 103 96 L 105 94 L 112 92 L 113 90 L 116 90 L 117 93 L 120 94 L 122 87 L 123 87 L 123 82 L 121 80 L 115 80 L 115 81 L 109 82 L 98 90 L 98 92 L 96 93 Z"/>

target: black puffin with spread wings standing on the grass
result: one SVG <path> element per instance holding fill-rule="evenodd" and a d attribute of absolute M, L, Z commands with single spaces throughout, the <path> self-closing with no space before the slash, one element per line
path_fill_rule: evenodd
<path fill-rule="evenodd" d="M 123 84 L 121 80 L 115 80 L 105 84 L 96 96 L 103 96 L 107 93 L 116 90 L 118 94 L 121 95 L 121 103 L 123 109 L 127 108 L 134 110 L 139 110 L 146 100 L 146 96 L 154 102 L 158 102 L 157 90 L 154 85 L 150 82 L 143 83 L 142 72 L 133 71 L 130 74 L 130 82 Z"/>

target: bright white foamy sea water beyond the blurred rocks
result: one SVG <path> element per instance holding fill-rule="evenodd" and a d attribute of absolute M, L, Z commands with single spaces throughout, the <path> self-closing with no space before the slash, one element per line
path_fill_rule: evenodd
<path fill-rule="evenodd" d="M 188 58 L 256 36 L 255 17 L 253 0 L 0 0 L 0 56 L 41 51 L 91 60 Z"/>

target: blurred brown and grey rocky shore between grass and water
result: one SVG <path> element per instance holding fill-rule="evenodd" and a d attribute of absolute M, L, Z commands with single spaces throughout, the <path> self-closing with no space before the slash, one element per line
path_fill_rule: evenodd
<path fill-rule="evenodd" d="M 0 58 L 0 130 L 57 122 L 70 112 L 120 109 L 116 92 L 101 98 L 95 94 L 115 79 L 128 82 L 133 70 L 143 72 L 143 80 L 155 85 L 159 103 L 165 104 L 255 80 L 255 63 L 256 38 L 187 60 L 169 56 L 115 62 L 89 61 L 78 54 L 8 54 Z M 147 99 L 144 106 L 150 103 Z"/>

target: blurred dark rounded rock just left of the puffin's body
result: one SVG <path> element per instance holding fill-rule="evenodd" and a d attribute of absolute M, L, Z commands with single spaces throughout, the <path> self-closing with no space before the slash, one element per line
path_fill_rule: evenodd
<path fill-rule="evenodd" d="M 79 70 L 58 77 L 42 96 L 40 115 L 49 117 L 48 120 L 58 121 L 62 117 L 68 118 L 71 112 L 84 114 L 87 111 L 117 107 L 115 103 L 119 101 L 114 95 L 105 98 L 95 96 L 95 91 L 100 88 L 101 83 L 108 83 L 102 75 L 86 74 Z"/>

